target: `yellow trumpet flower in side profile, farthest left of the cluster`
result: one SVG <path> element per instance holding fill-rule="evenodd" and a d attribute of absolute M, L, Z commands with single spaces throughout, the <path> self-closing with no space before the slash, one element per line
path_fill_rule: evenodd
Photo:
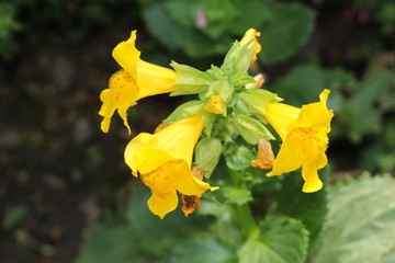
<path fill-rule="evenodd" d="M 142 98 L 172 92 L 177 89 L 172 84 L 177 79 L 176 71 L 142 60 L 135 41 L 136 31 L 133 31 L 126 42 L 121 42 L 113 49 L 112 56 L 123 69 L 110 78 L 109 89 L 100 94 L 103 105 L 99 115 L 104 117 L 101 123 L 104 133 L 109 132 L 111 117 L 117 110 L 131 134 L 126 118 L 131 106 Z"/>

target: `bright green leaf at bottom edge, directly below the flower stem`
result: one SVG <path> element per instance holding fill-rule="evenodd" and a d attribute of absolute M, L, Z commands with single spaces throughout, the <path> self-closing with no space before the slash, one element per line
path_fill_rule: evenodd
<path fill-rule="evenodd" d="M 239 263 L 304 262 L 308 231 L 301 221 L 283 216 L 268 216 L 259 224 L 259 230 L 260 233 L 252 233 L 238 251 Z"/>

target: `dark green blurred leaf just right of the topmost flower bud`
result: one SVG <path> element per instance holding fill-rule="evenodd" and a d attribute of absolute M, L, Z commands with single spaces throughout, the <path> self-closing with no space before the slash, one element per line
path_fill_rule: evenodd
<path fill-rule="evenodd" d="M 283 61 L 306 42 L 313 32 L 315 13 L 297 2 L 267 4 L 272 14 L 260 27 L 262 52 L 259 58 L 266 65 Z"/>

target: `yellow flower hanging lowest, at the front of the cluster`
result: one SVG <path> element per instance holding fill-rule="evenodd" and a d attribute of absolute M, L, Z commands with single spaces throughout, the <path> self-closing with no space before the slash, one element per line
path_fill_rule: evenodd
<path fill-rule="evenodd" d="M 148 207 L 160 218 L 176 209 L 177 191 L 183 195 L 200 195 L 216 190 L 191 171 L 193 149 L 202 129 L 202 116 L 192 115 L 157 134 L 139 134 L 125 149 L 126 164 L 133 175 L 140 174 L 150 188 Z"/>

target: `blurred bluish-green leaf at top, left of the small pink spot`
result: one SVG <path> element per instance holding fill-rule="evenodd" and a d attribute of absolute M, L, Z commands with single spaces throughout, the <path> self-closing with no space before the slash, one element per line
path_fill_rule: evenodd
<path fill-rule="evenodd" d="M 170 50 L 178 48 L 178 25 L 169 18 L 163 3 L 154 4 L 143 11 L 144 21 L 149 32 Z"/>

